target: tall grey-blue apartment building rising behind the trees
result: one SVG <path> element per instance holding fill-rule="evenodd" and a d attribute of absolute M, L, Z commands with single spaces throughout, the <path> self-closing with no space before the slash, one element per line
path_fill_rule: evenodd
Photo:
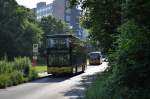
<path fill-rule="evenodd" d="M 72 28 L 77 37 L 83 36 L 83 29 L 80 27 L 79 18 L 81 11 L 77 7 L 69 8 L 68 0 L 54 0 L 53 3 L 47 4 L 46 2 L 40 2 L 37 7 L 33 9 L 37 20 L 41 20 L 42 17 L 53 16 L 66 22 L 70 28 Z"/>

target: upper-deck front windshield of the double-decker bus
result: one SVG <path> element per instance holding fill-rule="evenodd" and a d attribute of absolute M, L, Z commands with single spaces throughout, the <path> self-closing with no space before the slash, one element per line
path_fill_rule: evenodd
<path fill-rule="evenodd" d="M 49 38 L 47 40 L 47 47 L 55 49 L 69 48 L 68 38 Z"/>

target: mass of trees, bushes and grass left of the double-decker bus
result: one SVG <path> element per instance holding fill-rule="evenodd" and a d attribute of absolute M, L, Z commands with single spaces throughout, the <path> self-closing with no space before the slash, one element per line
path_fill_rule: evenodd
<path fill-rule="evenodd" d="M 37 21 L 31 9 L 19 6 L 15 0 L 1 0 L 0 88 L 35 79 L 39 72 L 47 71 L 43 66 L 46 64 L 46 35 L 56 33 L 73 33 L 73 30 L 51 16 Z M 33 44 L 38 44 L 38 53 L 33 53 Z M 34 54 L 38 55 L 40 65 L 35 68 L 30 62 Z"/>

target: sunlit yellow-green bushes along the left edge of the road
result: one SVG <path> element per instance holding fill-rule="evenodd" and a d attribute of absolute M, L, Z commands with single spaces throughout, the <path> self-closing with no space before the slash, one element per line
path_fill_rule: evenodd
<path fill-rule="evenodd" d="M 15 58 L 13 62 L 0 61 L 0 88 L 17 85 L 38 77 L 29 58 Z"/>

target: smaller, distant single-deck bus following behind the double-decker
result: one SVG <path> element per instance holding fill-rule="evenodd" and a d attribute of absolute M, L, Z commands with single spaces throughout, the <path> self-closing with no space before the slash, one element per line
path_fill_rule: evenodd
<path fill-rule="evenodd" d="M 88 59 L 90 65 L 100 65 L 102 63 L 101 52 L 90 52 L 88 54 Z"/>

